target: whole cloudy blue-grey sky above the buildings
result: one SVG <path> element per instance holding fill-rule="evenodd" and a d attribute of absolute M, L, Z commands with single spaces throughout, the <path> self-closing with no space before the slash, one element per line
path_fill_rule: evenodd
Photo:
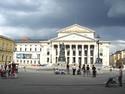
<path fill-rule="evenodd" d="M 0 0 L 0 34 L 13 39 L 49 39 L 73 24 L 125 48 L 125 0 Z"/>

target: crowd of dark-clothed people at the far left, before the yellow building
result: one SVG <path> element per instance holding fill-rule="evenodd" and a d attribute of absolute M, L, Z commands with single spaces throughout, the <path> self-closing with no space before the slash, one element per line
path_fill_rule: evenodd
<path fill-rule="evenodd" d="M 18 67 L 15 63 L 1 65 L 0 76 L 1 77 L 16 77 L 18 72 Z"/>

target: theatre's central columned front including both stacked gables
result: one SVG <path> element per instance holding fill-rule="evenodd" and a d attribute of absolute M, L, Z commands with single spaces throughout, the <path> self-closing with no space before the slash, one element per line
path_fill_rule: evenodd
<path fill-rule="evenodd" d="M 76 63 L 80 67 L 83 64 L 94 64 L 97 58 L 97 39 L 94 35 L 95 31 L 79 25 L 59 30 L 58 37 L 51 39 L 58 44 L 58 50 L 56 50 L 58 56 L 55 55 L 55 58 L 59 57 L 59 43 L 64 43 L 66 64 L 72 65 Z"/>

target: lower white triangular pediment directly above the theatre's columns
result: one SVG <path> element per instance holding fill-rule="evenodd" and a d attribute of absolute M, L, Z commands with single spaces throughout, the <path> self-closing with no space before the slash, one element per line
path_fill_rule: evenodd
<path fill-rule="evenodd" d="M 95 41 L 95 39 L 92 39 L 77 33 L 68 34 L 51 40 L 52 41 Z"/>

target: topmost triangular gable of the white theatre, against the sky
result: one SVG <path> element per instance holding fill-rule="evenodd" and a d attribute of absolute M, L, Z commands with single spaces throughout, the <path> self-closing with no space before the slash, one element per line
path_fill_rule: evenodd
<path fill-rule="evenodd" d="M 71 32 L 94 33 L 95 31 L 92 29 L 89 29 L 87 27 L 83 27 L 78 24 L 74 24 L 74 25 L 68 26 L 66 28 L 60 29 L 57 32 L 59 32 L 59 33 L 71 33 Z"/>

